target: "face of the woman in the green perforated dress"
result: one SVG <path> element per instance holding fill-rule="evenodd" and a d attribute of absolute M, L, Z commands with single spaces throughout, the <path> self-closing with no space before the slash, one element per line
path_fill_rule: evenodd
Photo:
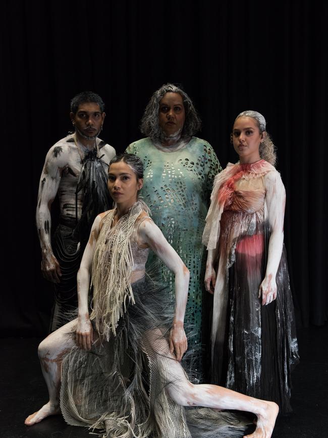
<path fill-rule="evenodd" d="M 166 93 L 159 102 L 158 122 L 166 137 L 173 137 L 182 131 L 185 123 L 185 107 L 179 93 Z"/>

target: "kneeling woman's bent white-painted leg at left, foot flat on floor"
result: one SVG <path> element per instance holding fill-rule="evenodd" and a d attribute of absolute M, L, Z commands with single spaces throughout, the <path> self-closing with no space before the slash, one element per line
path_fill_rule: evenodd
<path fill-rule="evenodd" d="M 49 401 L 34 414 L 29 415 L 25 424 L 31 426 L 39 423 L 49 415 L 60 413 L 59 393 L 61 385 L 62 357 L 63 354 L 75 345 L 74 337 L 69 333 L 75 331 L 76 320 L 65 324 L 63 327 L 49 334 L 38 348 L 42 374 L 49 392 Z"/>

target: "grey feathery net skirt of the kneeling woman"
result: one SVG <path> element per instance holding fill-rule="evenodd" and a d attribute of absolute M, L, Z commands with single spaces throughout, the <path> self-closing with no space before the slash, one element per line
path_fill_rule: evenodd
<path fill-rule="evenodd" d="M 208 437 L 242 436 L 244 419 L 209 409 L 186 411 L 170 398 L 167 388 L 186 374 L 181 366 L 179 375 L 172 371 L 173 318 L 166 314 L 165 294 L 145 279 L 132 286 L 136 304 L 119 320 L 117 335 L 108 342 L 98 338 L 91 351 L 76 347 L 65 356 L 65 420 L 107 437 L 189 437 L 202 429 Z"/>

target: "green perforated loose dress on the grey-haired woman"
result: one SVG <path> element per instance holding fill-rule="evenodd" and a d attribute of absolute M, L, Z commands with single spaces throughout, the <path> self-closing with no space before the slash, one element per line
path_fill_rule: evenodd
<path fill-rule="evenodd" d="M 154 223 L 190 271 L 185 321 L 194 327 L 187 335 L 195 355 L 187 359 L 184 368 L 193 370 L 195 381 L 202 381 L 211 310 L 204 288 L 206 251 L 201 238 L 213 179 L 221 166 L 211 145 L 197 137 L 176 151 L 155 145 L 149 137 L 142 138 L 131 143 L 126 152 L 142 158 L 144 185 L 140 194 Z M 153 261 L 150 254 L 147 265 Z M 174 303 L 174 275 L 164 266 L 158 270 L 161 280 L 170 286 Z"/>

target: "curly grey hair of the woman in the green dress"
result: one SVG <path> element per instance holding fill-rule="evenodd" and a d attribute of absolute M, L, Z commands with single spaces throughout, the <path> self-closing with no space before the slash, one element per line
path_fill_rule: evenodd
<path fill-rule="evenodd" d="M 181 137 L 192 136 L 200 129 L 201 120 L 188 94 L 180 87 L 168 83 L 162 85 L 153 93 L 141 119 L 141 132 L 152 140 L 158 140 L 163 137 L 158 122 L 159 102 L 166 93 L 170 92 L 179 93 L 181 95 L 185 108 L 185 123 L 182 128 Z"/>

